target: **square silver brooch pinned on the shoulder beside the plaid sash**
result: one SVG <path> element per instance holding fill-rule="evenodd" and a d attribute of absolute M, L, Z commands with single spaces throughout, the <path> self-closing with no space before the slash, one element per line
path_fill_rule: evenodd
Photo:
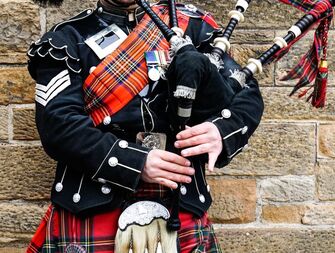
<path fill-rule="evenodd" d="M 127 34 L 120 27 L 112 24 L 85 40 L 85 43 L 99 59 L 103 59 L 117 49 L 126 38 Z"/>

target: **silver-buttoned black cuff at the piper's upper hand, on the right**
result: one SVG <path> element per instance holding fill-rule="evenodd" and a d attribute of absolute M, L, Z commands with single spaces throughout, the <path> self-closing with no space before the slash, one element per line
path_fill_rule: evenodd
<path fill-rule="evenodd" d="M 222 138 L 223 149 L 219 155 L 215 167 L 222 168 L 227 165 L 234 156 L 248 147 L 248 126 L 229 109 L 223 109 L 221 114 L 208 119 L 219 130 Z"/>

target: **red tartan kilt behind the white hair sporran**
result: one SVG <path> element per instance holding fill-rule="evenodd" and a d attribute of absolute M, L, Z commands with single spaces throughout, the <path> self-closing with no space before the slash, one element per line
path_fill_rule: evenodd
<path fill-rule="evenodd" d="M 26 253 L 114 253 L 120 209 L 80 218 L 50 205 Z M 221 253 L 207 213 L 200 219 L 181 212 L 181 253 Z"/>

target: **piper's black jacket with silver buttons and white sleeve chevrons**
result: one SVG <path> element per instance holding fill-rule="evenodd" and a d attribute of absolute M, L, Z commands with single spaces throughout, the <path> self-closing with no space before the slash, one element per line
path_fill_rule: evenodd
<path fill-rule="evenodd" d="M 190 16 L 186 34 L 201 52 L 208 51 L 213 27 L 203 21 L 198 10 L 181 4 L 178 8 Z M 143 11 L 138 8 L 134 14 L 135 21 L 129 21 L 122 11 L 86 10 L 53 27 L 28 51 L 28 69 L 37 83 L 38 131 L 45 151 L 58 162 L 51 200 L 73 213 L 119 207 L 137 190 L 149 151 L 135 143 L 137 132 L 164 132 L 168 135 L 167 149 L 173 149 L 167 84 L 163 80 L 97 127 L 84 111 L 83 82 L 101 61 L 84 41 L 112 23 L 128 34 Z M 225 55 L 220 73 L 228 80 L 230 70 L 239 68 Z M 215 92 L 202 99 L 215 101 Z M 217 113 L 209 114 L 206 120 L 212 121 L 222 135 L 224 148 L 216 163 L 222 167 L 246 147 L 260 122 L 263 101 L 253 79 L 246 88 L 235 90 L 229 103 L 216 104 Z M 201 216 L 212 200 L 204 176 L 206 157 L 194 161 L 195 179 L 185 185 L 181 206 Z"/>

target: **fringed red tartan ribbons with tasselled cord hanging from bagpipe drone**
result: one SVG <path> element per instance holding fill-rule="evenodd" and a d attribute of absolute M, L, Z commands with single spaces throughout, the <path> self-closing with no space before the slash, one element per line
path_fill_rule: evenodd
<path fill-rule="evenodd" d="M 327 59 L 327 44 L 328 44 L 328 30 L 331 20 L 333 18 L 333 7 L 329 0 L 279 0 L 288 5 L 292 5 L 299 10 L 311 14 L 316 19 L 316 24 L 319 23 L 315 35 L 314 42 L 309 51 L 301 58 L 300 62 L 281 80 L 286 81 L 290 79 L 299 78 L 290 95 L 293 95 L 298 89 L 305 87 L 315 80 L 315 83 L 310 88 L 302 92 L 299 97 L 306 95 L 306 93 L 313 89 L 307 100 L 312 100 L 312 105 L 315 107 L 323 107 L 326 99 L 326 85 L 328 68 L 326 67 Z M 279 60 L 284 56 L 290 47 L 301 37 L 307 33 L 304 32 L 288 47 L 280 50 L 274 57 Z"/>

